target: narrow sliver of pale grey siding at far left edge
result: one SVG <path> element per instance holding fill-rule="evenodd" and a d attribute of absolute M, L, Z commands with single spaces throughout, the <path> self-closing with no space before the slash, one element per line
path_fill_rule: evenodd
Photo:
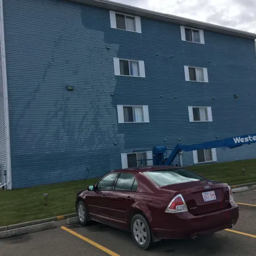
<path fill-rule="evenodd" d="M 1 21 L 0 21 L 1 22 Z M 3 175 L 6 170 L 6 136 L 5 136 L 5 104 L 3 96 L 3 70 L 2 70 L 2 38 L 0 34 L 0 184 L 5 183 Z"/>

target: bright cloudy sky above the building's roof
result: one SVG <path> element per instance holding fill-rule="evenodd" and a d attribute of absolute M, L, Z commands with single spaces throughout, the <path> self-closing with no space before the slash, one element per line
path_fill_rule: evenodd
<path fill-rule="evenodd" d="M 256 33 L 256 0 L 112 0 Z"/>

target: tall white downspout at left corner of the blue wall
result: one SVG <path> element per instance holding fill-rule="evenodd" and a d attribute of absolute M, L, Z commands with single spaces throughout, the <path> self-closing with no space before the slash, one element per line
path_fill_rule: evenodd
<path fill-rule="evenodd" d="M 7 189 L 12 189 L 11 183 L 11 145 L 10 145 L 10 122 L 9 122 L 9 101 L 7 89 L 6 52 L 5 52 L 5 28 L 3 26 L 3 0 L 0 0 L 0 36 L 3 70 L 3 102 L 5 108 L 5 139 L 6 139 L 6 171 Z"/>

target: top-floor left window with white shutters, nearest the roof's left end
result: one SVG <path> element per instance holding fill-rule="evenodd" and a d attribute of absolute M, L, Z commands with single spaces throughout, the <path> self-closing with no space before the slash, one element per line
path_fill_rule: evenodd
<path fill-rule="evenodd" d="M 115 11 L 109 11 L 109 13 L 112 28 L 141 33 L 141 18 L 139 16 L 115 13 Z"/>

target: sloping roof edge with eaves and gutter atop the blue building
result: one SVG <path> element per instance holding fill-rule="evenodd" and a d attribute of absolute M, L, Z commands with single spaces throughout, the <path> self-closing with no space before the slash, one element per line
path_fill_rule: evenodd
<path fill-rule="evenodd" d="M 146 18 L 162 20 L 164 22 L 175 23 L 181 26 L 195 27 L 201 30 L 209 30 L 213 32 L 218 32 L 227 35 L 239 36 L 241 38 L 256 39 L 256 34 L 236 30 L 234 28 L 222 27 L 215 24 L 210 24 L 206 22 L 200 22 L 197 20 L 187 19 L 180 16 L 158 13 L 156 11 L 150 11 L 146 9 L 141 9 L 134 6 L 123 5 L 122 3 L 107 1 L 107 0 L 69 0 L 72 2 L 84 3 L 85 5 L 96 6 L 108 10 L 118 11 L 120 13 L 127 13 L 136 16 L 142 16 Z"/>

